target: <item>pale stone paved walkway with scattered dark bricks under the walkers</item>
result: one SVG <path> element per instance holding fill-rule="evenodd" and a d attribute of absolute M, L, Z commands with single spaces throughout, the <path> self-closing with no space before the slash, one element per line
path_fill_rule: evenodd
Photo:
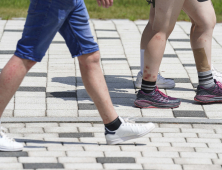
<path fill-rule="evenodd" d="M 137 117 L 138 122 L 157 122 L 154 133 L 122 145 L 105 145 L 104 128 L 82 84 L 78 60 L 70 57 L 58 34 L 5 110 L 3 126 L 25 149 L 0 152 L 0 169 L 221 169 L 222 104 L 193 101 L 198 80 L 189 22 L 177 22 L 160 68 L 162 76 L 176 81 L 176 88 L 162 91 L 181 98 L 181 106 L 164 110 L 133 106 L 140 37 L 146 23 L 90 21 L 118 114 Z M 12 56 L 23 25 L 24 21 L 0 20 L 0 69 Z M 222 68 L 221 30 L 222 24 L 217 24 L 213 39 L 212 61 L 218 69 Z"/>

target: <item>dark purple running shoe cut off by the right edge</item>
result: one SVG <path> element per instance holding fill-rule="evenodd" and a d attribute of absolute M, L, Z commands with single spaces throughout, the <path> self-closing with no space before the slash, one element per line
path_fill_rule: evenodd
<path fill-rule="evenodd" d="M 215 85 L 208 89 L 199 85 L 194 100 L 200 103 L 222 103 L 222 84 L 217 80 L 214 81 Z"/>

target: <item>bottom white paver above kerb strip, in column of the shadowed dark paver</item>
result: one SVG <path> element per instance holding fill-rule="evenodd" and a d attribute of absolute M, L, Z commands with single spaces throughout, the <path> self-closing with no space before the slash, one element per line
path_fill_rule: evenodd
<path fill-rule="evenodd" d="M 47 110 L 47 117 L 78 117 L 78 110 Z"/>

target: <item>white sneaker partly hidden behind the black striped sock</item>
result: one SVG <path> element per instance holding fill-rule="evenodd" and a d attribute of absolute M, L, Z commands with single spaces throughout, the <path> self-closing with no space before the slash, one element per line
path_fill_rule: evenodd
<path fill-rule="evenodd" d="M 135 82 L 135 86 L 137 89 L 141 89 L 142 79 L 143 79 L 143 74 L 141 71 L 139 71 Z M 167 79 L 158 74 L 156 85 L 160 89 L 172 89 L 175 87 L 175 82 L 173 79 Z"/>

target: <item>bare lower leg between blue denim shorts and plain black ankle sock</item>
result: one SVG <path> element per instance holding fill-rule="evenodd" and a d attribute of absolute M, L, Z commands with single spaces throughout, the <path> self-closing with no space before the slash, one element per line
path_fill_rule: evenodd
<path fill-rule="evenodd" d="M 86 91 L 94 101 L 104 124 L 115 120 L 118 115 L 110 99 L 109 91 L 100 68 L 99 52 L 82 55 L 79 58 L 80 71 Z"/>

